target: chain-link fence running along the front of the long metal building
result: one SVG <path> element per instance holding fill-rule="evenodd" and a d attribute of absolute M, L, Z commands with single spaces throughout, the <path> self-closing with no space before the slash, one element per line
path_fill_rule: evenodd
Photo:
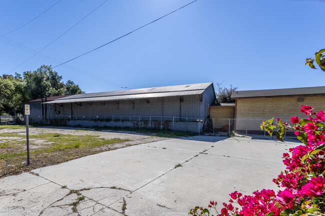
<path fill-rule="evenodd" d="M 260 124 L 267 118 L 211 119 L 175 116 L 116 116 L 116 115 L 56 115 L 32 116 L 30 124 L 70 127 L 112 127 L 149 130 L 189 131 L 195 133 L 228 135 L 260 133 Z M 282 120 L 290 122 L 289 120 Z M 22 116 L 0 116 L 1 125 L 23 124 Z"/>

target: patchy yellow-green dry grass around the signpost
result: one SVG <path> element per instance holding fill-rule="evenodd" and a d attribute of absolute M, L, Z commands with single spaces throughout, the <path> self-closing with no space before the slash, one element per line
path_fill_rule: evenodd
<path fill-rule="evenodd" d="M 130 140 L 95 135 L 32 134 L 29 137 L 31 164 L 26 167 L 26 136 L 0 133 L 0 177 L 109 151 L 113 144 L 127 141 Z"/>

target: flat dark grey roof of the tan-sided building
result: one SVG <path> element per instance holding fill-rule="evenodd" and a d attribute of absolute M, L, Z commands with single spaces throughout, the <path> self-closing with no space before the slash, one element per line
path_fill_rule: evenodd
<path fill-rule="evenodd" d="M 304 95 L 323 95 L 323 94 L 325 94 L 325 86 L 317 86 L 317 87 L 304 87 L 304 88 L 232 91 L 231 99 L 248 98 L 248 97 L 304 96 Z"/>

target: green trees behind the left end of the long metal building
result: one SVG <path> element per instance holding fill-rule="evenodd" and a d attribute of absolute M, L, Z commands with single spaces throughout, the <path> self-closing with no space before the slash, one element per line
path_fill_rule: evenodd
<path fill-rule="evenodd" d="M 22 113 L 23 102 L 44 99 L 48 96 L 80 94 L 78 85 L 68 80 L 64 84 L 50 65 L 42 65 L 37 70 L 25 71 L 22 76 L 3 74 L 0 76 L 0 114 Z"/>

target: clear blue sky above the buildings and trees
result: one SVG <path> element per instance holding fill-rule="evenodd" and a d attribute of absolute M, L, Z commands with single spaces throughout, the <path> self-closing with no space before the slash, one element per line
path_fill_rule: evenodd
<path fill-rule="evenodd" d="M 1 1 L 0 35 L 58 0 Z M 146 24 L 191 0 L 108 0 L 42 54 L 69 60 Z M 35 70 L 53 60 L 34 50 L 54 40 L 104 0 L 61 0 L 24 27 L 0 37 L 0 74 Z M 304 66 L 324 48 L 322 0 L 197 0 L 107 46 L 55 70 L 85 92 L 201 82 L 239 90 L 323 86 L 325 72 Z M 19 45 L 21 48 L 21 45 Z M 12 71 L 11 71 L 12 70 Z"/>

